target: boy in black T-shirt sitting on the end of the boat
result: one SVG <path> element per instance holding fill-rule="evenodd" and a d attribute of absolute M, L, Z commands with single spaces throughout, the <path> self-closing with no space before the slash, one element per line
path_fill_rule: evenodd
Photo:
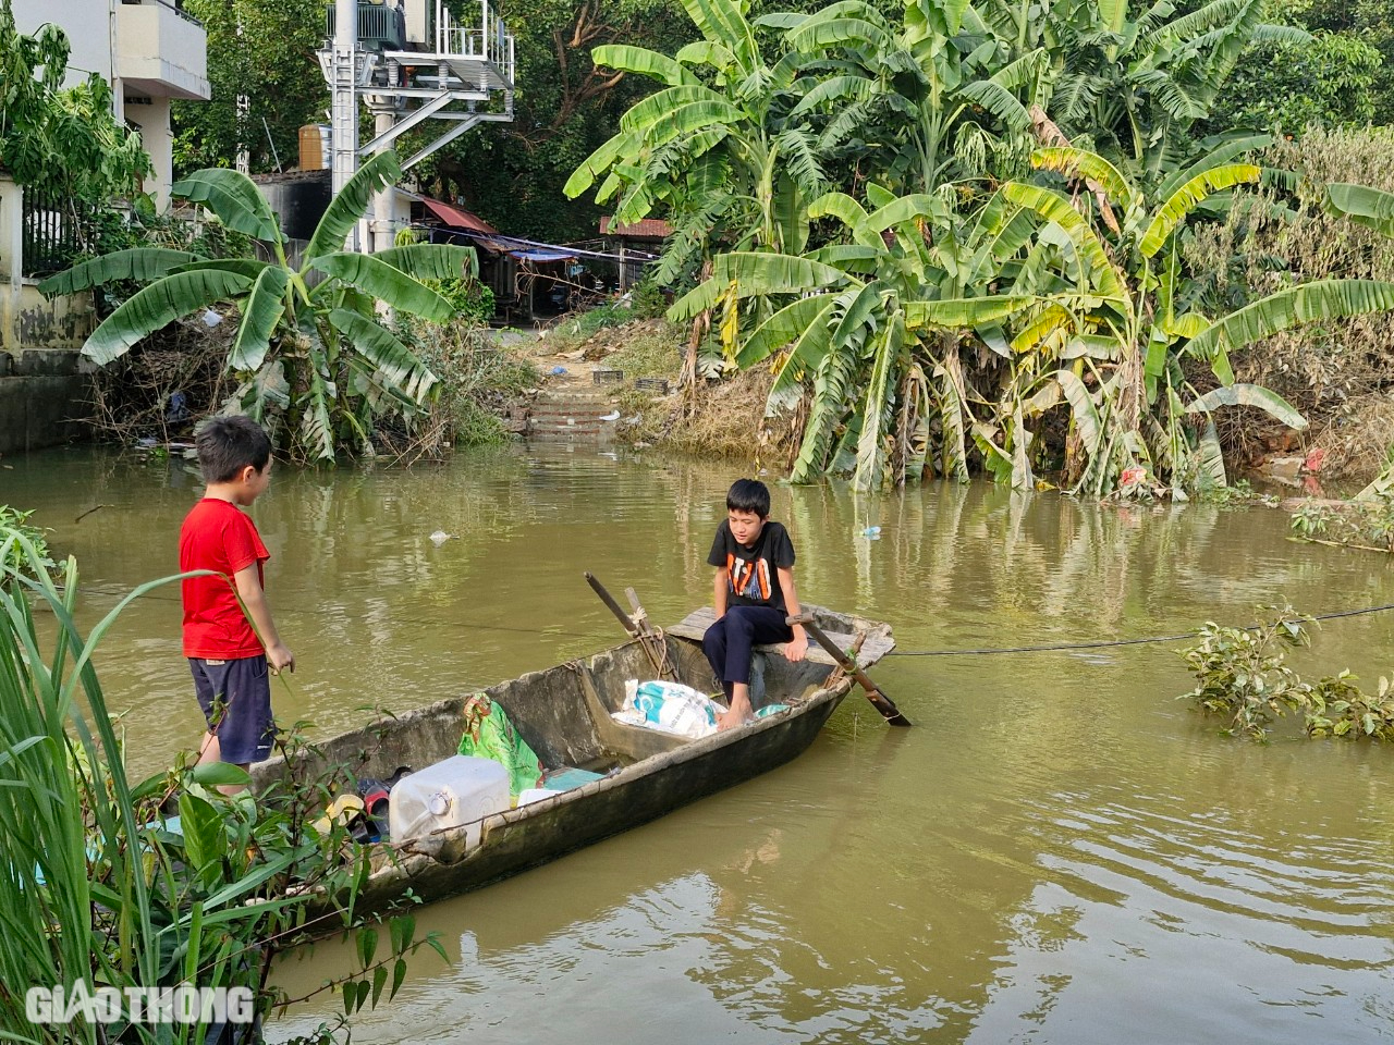
<path fill-rule="evenodd" d="M 707 562 L 717 567 L 712 584 L 715 623 L 703 635 L 703 649 L 726 691 L 730 708 L 717 723 L 733 729 L 751 715 L 750 648 L 785 642 L 789 660 L 803 660 L 809 635 L 789 627 L 799 613 L 793 587 L 793 543 L 789 531 L 769 521 L 769 489 L 758 479 L 736 479 L 726 493 L 726 521 L 717 527 Z"/>

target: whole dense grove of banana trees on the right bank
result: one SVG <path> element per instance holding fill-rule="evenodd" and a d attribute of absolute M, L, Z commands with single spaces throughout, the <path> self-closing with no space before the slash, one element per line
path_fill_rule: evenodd
<path fill-rule="evenodd" d="M 1264 25 L 1260 0 L 690 14 L 700 39 L 672 56 L 597 52 L 659 88 L 567 192 L 666 212 L 659 279 L 715 255 L 669 316 L 710 320 L 740 366 L 768 361 L 771 415 L 806 408 L 795 481 L 966 478 L 976 456 L 1026 489 L 1064 457 L 1092 496 L 1140 470 L 1185 497 L 1225 482 L 1217 407 L 1305 425 L 1235 382 L 1232 351 L 1388 304 L 1383 284 L 1331 283 L 1218 322 L 1195 307 L 1188 224 L 1260 181 L 1243 157 L 1267 139 L 1192 128 L 1250 40 L 1309 40 Z M 1058 410 L 1062 454 L 1039 439 Z"/>

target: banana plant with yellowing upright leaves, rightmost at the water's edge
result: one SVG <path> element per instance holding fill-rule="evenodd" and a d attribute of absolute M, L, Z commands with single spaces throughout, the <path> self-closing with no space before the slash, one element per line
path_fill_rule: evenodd
<path fill-rule="evenodd" d="M 1112 490 L 1132 465 L 1165 477 L 1177 497 L 1204 482 L 1224 485 L 1213 410 L 1249 405 L 1292 428 L 1306 426 L 1277 393 L 1235 383 L 1230 354 L 1301 322 L 1394 308 L 1394 284 L 1362 280 L 1291 287 L 1216 320 L 1186 308 L 1177 240 L 1188 216 L 1213 194 L 1262 177 L 1259 167 L 1230 159 L 1223 149 L 1174 173 L 1154 202 L 1097 153 L 1073 148 L 1033 153 L 1039 170 L 1097 187 L 1121 213 L 1107 222 L 1092 210 L 1087 195 L 1076 205 L 1041 185 L 1002 188 L 1005 198 L 1058 229 L 1080 270 L 1094 273 L 1105 291 L 1090 308 L 1058 311 L 1018 334 L 1018 346 L 1027 337 L 1066 339 L 1092 348 L 1055 375 L 1075 425 L 1078 456 L 1066 471 L 1083 492 Z M 1207 364 L 1217 387 L 1197 390 L 1192 362 Z"/>

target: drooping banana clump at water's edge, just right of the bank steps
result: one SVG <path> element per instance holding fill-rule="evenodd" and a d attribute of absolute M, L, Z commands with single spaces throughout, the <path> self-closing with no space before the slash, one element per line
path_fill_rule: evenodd
<path fill-rule="evenodd" d="M 795 482 L 827 472 L 850 472 L 860 489 L 917 479 L 934 422 L 944 470 L 966 479 L 969 433 L 991 433 L 997 419 L 974 417 L 981 396 L 965 379 L 959 344 L 1044 304 L 1015 272 L 1032 226 L 1001 199 L 967 220 L 927 194 L 868 185 L 867 202 L 871 210 L 842 192 L 821 196 L 810 217 L 836 220 L 845 241 L 803 256 L 721 255 L 669 316 L 723 307 L 737 365 L 774 366 L 769 412 L 811 385 Z M 998 281 L 1020 287 L 988 293 Z M 765 301 L 779 307 L 769 314 Z M 1019 440 L 1023 467 L 1027 443 Z"/>

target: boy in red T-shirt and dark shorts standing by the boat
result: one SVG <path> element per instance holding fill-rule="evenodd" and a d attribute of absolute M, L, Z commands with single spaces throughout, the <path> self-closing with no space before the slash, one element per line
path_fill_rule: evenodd
<path fill-rule="evenodd" d="M 198 761 L 245 769 L 270 755 L 275 725 L 268 669 L 272 674 L 296 670 L 296 656 L 280 641 L 262 589 L 262 563 L 270 553 L 240 510 L 270 482 L 270 440 L 251 418 L 216 417 L 194 443 L 208 489 L 184 518 L 178 566 L 223 574 L 183 582 L 184 656 L 208 720 Z"/>

